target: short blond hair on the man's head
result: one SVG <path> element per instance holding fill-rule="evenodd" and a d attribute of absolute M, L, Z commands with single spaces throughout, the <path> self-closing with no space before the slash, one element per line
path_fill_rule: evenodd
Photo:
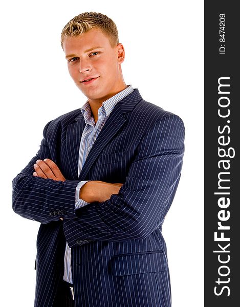
<path fill-rule="evenodd" d="M 75 37 L 96 28 L 101 29 L 108 36 L 112 47 L 118 45 L 118 30 L 114 21 L 101 13 L 85 12 L 73 17 L 62 29 L 62 49 L 64 37 Z"/>

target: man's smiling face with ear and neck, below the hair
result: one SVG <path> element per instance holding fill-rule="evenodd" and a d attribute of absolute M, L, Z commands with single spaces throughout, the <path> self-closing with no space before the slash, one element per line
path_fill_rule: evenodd
<path fill-rule="evenodd" d="M 126 88 L 121 71 L 123 46 L 113 48 L 100 29 L 64 38 L 63 50 L 71 77 L 89 101 L 102 102 Z"/>

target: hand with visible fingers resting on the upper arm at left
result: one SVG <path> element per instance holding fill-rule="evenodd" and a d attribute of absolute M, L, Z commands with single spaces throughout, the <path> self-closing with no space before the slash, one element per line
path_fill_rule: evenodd
<path fill-rule="evenodd" d="M 33 165 L 33 176 L 56 181 L 66 181 L 57 165 L 50 159 L 37 160 Z"/>

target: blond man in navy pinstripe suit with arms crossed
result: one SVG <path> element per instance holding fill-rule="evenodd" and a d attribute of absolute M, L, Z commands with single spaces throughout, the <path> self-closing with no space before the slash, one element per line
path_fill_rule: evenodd
<path fill-rule="evenodd" d="M 125 84 L 112 19 L 74 17 L 61 45 L 88 101 L 46 125 L 13 180 L 13 210 L 41 223 L 34 306 L 169 307 L 161 230 L 180 179 L 183 122 Z"/>

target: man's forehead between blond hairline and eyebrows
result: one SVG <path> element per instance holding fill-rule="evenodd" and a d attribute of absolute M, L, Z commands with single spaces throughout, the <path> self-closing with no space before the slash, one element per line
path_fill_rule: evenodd
<path fill-rule="evenodd" d="M 95 46 L 111 47 L 109 38 L 100 29 L 92 29 L 75 37 L 64 37 L 63 40 L 63 50 L 65 53 L 74 52 L 74 50 L 84 52 Z"/>

